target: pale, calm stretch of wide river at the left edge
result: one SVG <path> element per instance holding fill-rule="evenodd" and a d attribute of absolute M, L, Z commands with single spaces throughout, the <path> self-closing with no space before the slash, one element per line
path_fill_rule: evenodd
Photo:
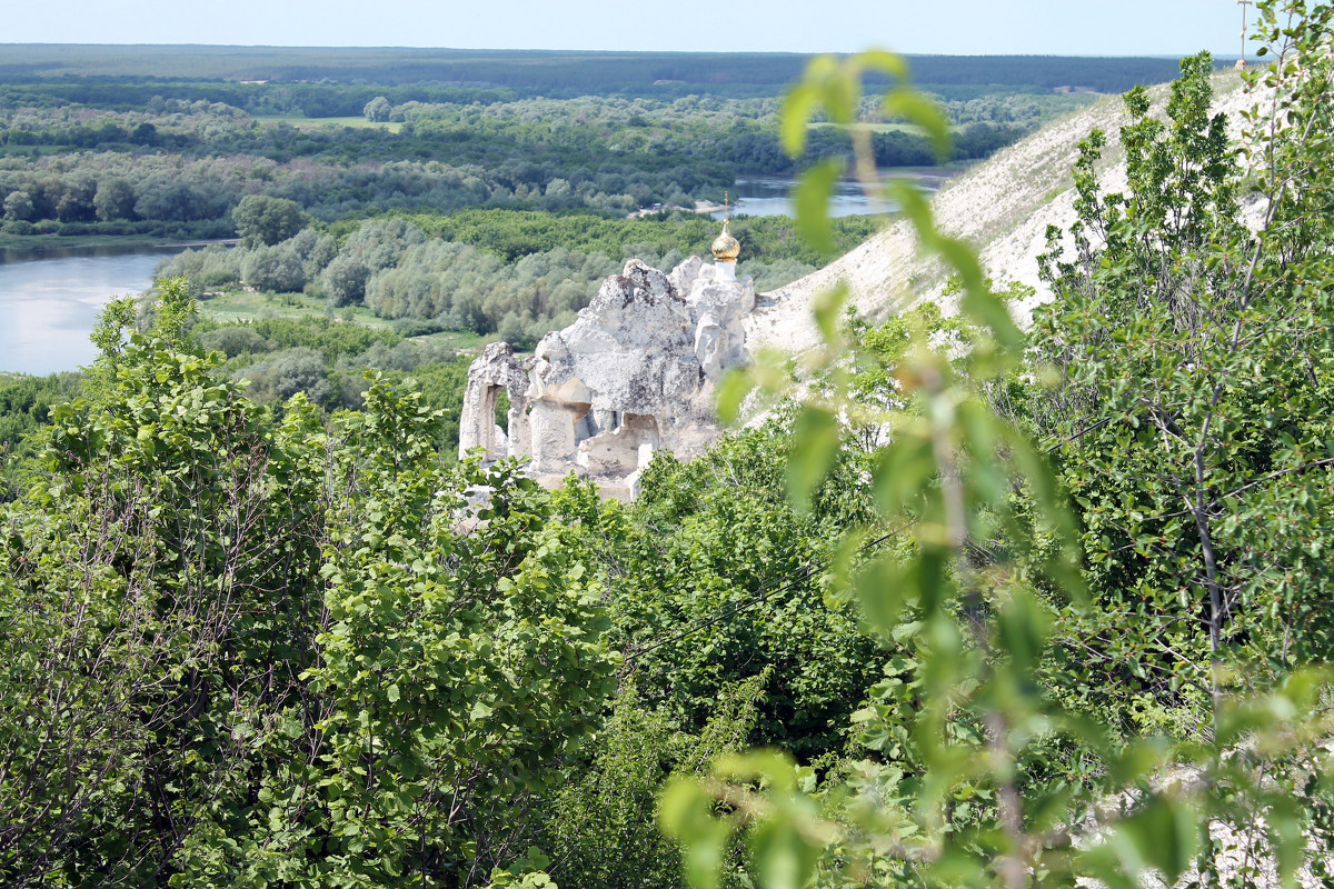
<path fill-rule="evenodd" d="M 147 291 L 180 248 L 0 248 L 0 371 L 55 373 L 92 363 L 97 313 L 115 296 Z"/>

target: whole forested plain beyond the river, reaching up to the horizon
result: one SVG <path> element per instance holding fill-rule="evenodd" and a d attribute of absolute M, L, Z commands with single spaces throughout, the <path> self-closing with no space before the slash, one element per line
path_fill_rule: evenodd
<path fill-rule="evenodd" d="M 253 55 L 237 52 L 224 64 Z M 791 176 L 851 151 L 846 132 L 819 120 L 806 160 L 782 151 L 780 96 L 802 56 L 443 52 L 432 75 L 408 61 L 412 51 L 347 51 L 346 64 L 320 52 L 319 75 L 287 65 L 313 57 L 299 49 L 259 53 L 257 68 L 235 73 L 213 67 L 208 48 L 184 57 L 169 47 L 11 47 L 0 65 L 0 232 L 224 239 L 248 195 L 293 200 L 321 221 L 468 207 L 624 216 L 718 201 L 738 177 Z M 147 65 L 155 56 L 193 68 L 173 79 L 171 64 Z M 943 160 L 956 163 L 1094 97 L 1057 87 L 1171 76 L 1170 63 L 1150 59 L 919 61 L 955 129 Z M 654 85 L 683 72 L 703 81 Z M 860 119 L 879 165 L 942 160 L 874 101 Z"/>

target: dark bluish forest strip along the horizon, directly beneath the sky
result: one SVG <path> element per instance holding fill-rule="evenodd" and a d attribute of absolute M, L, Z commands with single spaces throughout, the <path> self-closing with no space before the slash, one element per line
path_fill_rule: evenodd
<path fill-rule="evenodd" d="M 327 84 L 350 87 L 428 87 L 422 101 L 496 101 L 508 97 L 568 97 L 632 95 L 675 97 L 690 93 L 750 97 L 772 96 L 800 77 L 811 56 L 798 53 L 692 52 L 539 52 L 412 48 L 317 47 L 177 47 L 177 45 L 60 45 L 5 47 L 0 83 L 49 83 L 67 79 L 69 101 L 89 101 L 101 85 L 117 79 L 163 97 L 177 89 L 189 99 L 247 107 L 277 85 Z M 908 56 L 919 87 L 934 89 L 1073 87 L 1101 93 L 1123 92 L 1135 84 L 1163 83 L 1177 76 L 1177 60 L 1165 57 L 1069 56 Z M 1219 64 L 1226 64 L 1222 60 Z M 152 80 L 152 84 L 147 83 Z M 209 93 L 199 83 L 217 81 Z M 231 81 L 231 83 L 224 83 Z M 267 83 L 239 83 L 267 81 Z M 435 92 L 431 92 L 434 88 Z M 512 95 L 488 92 L 488 88 Z M 312 91 L 313 93 L 315 91 Z M 351 91 L 355 92 L 355 91 Z M 351 101 L 351 92 L 348 95 Z M 363 92 L 364 104 L 383 91 Z M 936 91 L 939 92 L 939 91 Z M 467 97 L 468 95 L 472 97 Z M 352 101 L 355 104 L 355 101 Z M 348 105 L 351 108 L 351 105 Z M 311 116 L 360 112 L 311 109 Z"/>

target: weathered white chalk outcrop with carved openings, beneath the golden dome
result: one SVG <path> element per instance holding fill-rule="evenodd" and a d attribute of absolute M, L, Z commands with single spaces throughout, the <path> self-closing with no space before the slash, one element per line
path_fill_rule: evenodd
<path fill-rule="evenodd" d="M 472 363 L 459 452 L 528 456 L 543 484 L 574 472 L 631 498 L 654 450 L 690 460 L 718 440 L 714 384 L 747 360 L 742 321 L 754 308 L 754 285 L 731 263 L 692 257 L 663 275 L 631 260 L 574 324 L 542 339 L 530 367 L 504 343 Z M 502 388 L 507 432 L 494 424 Z"/>

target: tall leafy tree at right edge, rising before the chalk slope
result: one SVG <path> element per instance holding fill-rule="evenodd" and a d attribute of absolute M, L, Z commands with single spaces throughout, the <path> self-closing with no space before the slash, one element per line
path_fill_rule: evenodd
<path fill-rule="evenodd" d="M 1322 31 L 1325 13 L 1306 27 Z M 1306 71 L 1326 76 L 1319 63 Z M 1037 341 L 1065 381 L 1043 407 L 1059 419 L 1051 436 L 1065 441 L 1094 589 L 1107 612 L 1155 622 L 1159 641 L 1146 652 L 1110 628 L 1075 632 L 1109 641 L 1109 673 L 1130 662 L 1155 673 L 1145 681 L 1174 678 L 1183 704 L 1209 689 L 1218 713 L 1234 680 L 1263 686 L 1334 653 L 1319 554 L 1330 541 L 1311 521 L 1334 506 L 1322 408 L 1334 312 L 1311 287 L 1334 269 L 1317 221 L 1334 171 L 1327 109 L 1278 72 L 1263 117 L 1289 123 L 1250 124 L 1263 215 L 1249 228 L 1245 171 L 1225 117 L 1209 113 L 1210 72 L 1207 55 L 1182 63 L 1167 121 L 1149 116 L 1143 91 L 1127 93 L 1123 193 L 1102 195 L 1094 176 L 1102 133 L 1085 143 L 1075 256 L 1047 257 L 1057 300 Z"/>

